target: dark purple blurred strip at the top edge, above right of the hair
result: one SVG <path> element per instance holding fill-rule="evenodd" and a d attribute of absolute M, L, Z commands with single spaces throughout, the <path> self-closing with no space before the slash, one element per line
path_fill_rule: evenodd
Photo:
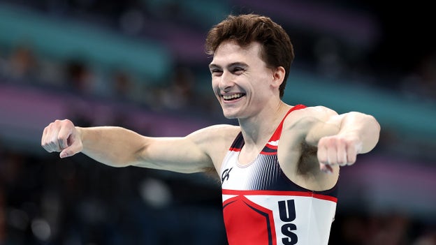
<path fill-rule="evenodd" d="M 235 0 L 277 22 L 294 24 L 308 31 L 333 34 L 354 45 L 371 46 L 379 35 L 375 19 L 363 12 L 311 1 Z"/>

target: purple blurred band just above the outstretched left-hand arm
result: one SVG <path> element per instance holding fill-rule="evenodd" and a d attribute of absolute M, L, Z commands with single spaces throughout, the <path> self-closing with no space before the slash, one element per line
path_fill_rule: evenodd
<path fill-rule="evenodd" d="M 153 136 L 183 136 L 210 125 L 205 119 L 0 83 L 0 136 L 3 138 L 39 147 L 45 126 L 54 119 L 72 117 L 87 119 L 95 125 L 113 125 L 122 118 L 126 127 Z"/>

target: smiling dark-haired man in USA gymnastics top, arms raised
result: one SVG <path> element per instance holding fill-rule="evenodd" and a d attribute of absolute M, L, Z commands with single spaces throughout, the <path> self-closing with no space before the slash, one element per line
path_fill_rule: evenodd
<path fill-rule="evenodd" d="M 327 244 L 340 166 L 375 147 L 379 124 L 360 112 L 282 101 L 293 60 L 284 29 L 259 15 L 228 16 L 206 39 L 212 89 L 224 116 L 182 138 L 150 138 L 119 127 L 57 120 L 42 145 L 60 157 L 82 152 L 115 167 L 204 172 L 222 182 L 228 242 Z"/>

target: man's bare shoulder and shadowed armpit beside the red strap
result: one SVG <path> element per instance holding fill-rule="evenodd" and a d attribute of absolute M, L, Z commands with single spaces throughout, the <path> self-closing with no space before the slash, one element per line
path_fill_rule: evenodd
<path fill-rule="evenodd" d="M 278 157 L 285 175 L 294 183 L 314 191 L 323 191 L 330 183 L 330 177 L 319 170 L 316 142 L 324 133 L 336 133 L 339 128 L 333 125 L 328 132 L 317 128 L 325 128 L 326 121 L 336 115 L 328 107 L 314 106 L 294 110 L 284 120 Z"/>

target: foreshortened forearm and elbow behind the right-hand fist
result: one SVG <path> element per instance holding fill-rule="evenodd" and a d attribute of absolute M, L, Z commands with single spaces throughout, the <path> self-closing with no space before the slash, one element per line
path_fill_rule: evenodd
<path fill-rule="evenodd" d="M 342 114 L 342 121 L 338 135 L 351 135 L 361 142 L 359 154 L 371 151 L 379 141 L 380 125 L 377 120 L 361 112 Z"/>

